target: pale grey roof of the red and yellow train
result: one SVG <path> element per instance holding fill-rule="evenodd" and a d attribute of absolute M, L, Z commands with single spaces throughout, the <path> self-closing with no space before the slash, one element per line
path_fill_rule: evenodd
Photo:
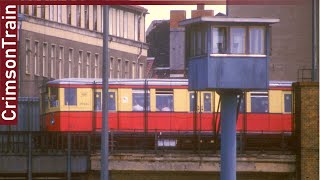
<path fill-rule="evenodd" d="M 293 81 L 269 81 L 270 87 L 291 87 Z M 102 85 L 102 79 L 65 78 L 49 81 L 48 85 Z M 188 86 L 188 79 L 109 79 L 109 85 Z"/>

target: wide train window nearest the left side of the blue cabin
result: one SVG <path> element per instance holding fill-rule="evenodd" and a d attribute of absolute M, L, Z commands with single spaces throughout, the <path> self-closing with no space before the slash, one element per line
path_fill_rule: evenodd
<path fill-rule="evenodd" d="M 173 91 L 156 90 L 156 110 L 157 111 L 173 111 Z"/>

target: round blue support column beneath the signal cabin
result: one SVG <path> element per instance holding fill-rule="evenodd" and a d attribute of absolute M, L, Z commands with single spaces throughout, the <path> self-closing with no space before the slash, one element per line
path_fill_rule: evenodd
<path fill-rule="evenodd" d="M 221 93 L 221 180 L 236 180 L 237 94 Z"/>

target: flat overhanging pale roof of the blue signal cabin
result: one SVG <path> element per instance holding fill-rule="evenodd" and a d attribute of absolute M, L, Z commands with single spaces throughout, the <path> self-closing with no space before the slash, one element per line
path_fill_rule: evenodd
<path fill-rule="evenodd" d="M 202 16 L 192 19 L 186 19 L 179 23 L 180 26 L 187 26 L 196 23 L 209 22 L 209 23 L 229 23 L 229 24 L 243 24 L 243 23 L 254 23 L 254 24 L 273 24 L 280 22 L 280 19 L 272 18 L 239 18 L 239 17 L 221 17 L 221 16 Z"/>

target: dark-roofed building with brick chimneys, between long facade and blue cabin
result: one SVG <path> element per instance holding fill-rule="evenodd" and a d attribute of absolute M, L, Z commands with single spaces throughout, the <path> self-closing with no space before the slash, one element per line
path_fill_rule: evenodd
<path fill-rule="evenodd" d="M 197 5 L 191 11 L 191 18 L 214 16 L 213 10 L 205 10 L 204 5 Z M 179 22 L 186 19 L 185 10 L 170 11 L 170 20 L 155 20 L 146 32 L 150 44 L 148 57 L 154 57 L 154 78 L 187 78 L 188 62 L 186 61 L 185 27 Z"/>

